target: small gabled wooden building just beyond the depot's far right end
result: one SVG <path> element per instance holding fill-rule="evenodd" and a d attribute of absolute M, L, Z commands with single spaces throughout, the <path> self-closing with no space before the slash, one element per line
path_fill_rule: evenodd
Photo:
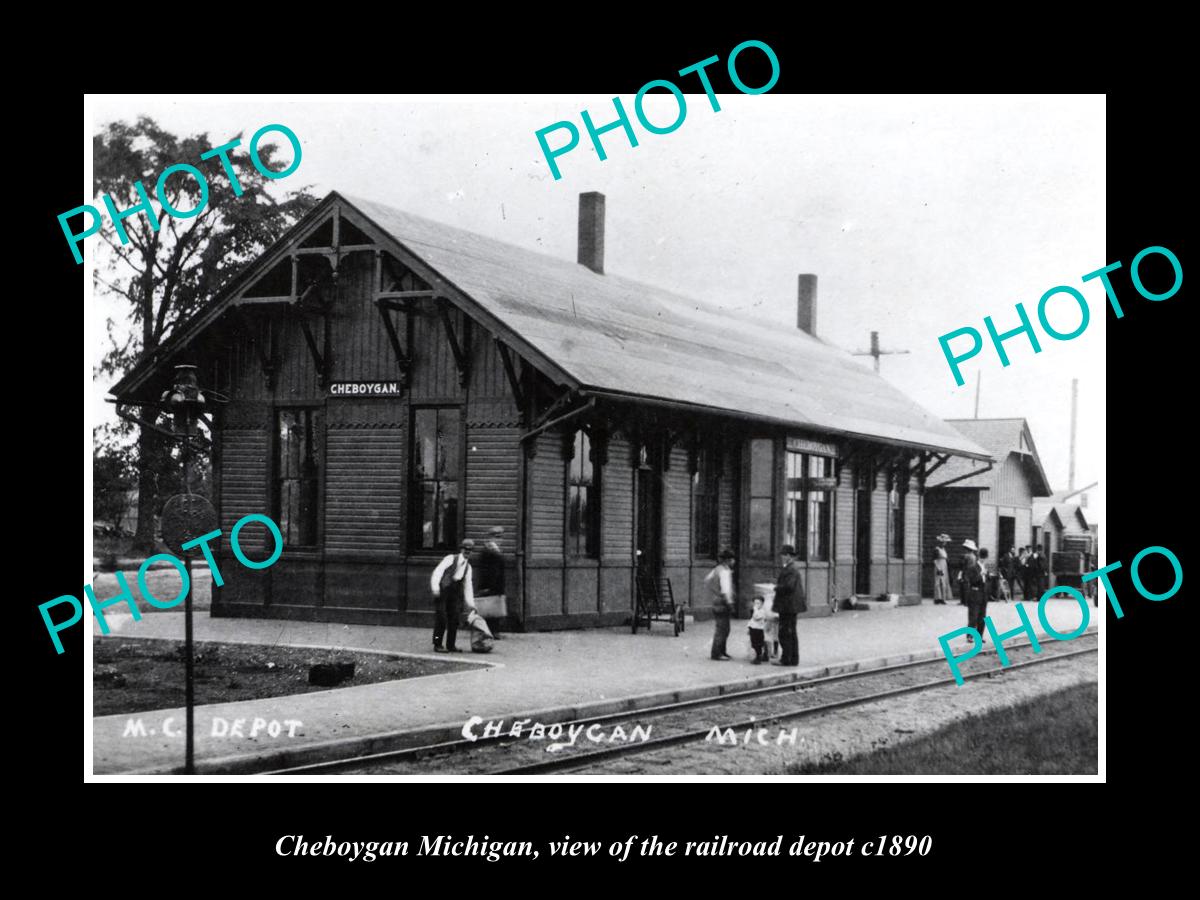
<path fill-rule="evenodd" d="M 925 492 L 925 528 L 922 550 L 931 558 L 940 533 L 953 539 L 948 547 L 952 570 L 971 539 L 998 560 L 1006 548 L 1036 542 L 1033 498 L 1049 497 L 1050 482 L 1025 419 L 948 419 L 949 425 L 986 448 L 995 462 L 950 460 L 930 480 Z M 934 568 L 922 580 L 925 596 L 934 592 Z"/>

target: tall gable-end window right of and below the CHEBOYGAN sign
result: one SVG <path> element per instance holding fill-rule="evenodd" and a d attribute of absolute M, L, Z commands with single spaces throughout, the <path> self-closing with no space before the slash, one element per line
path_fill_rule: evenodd
<path fill-rule="evenodd" d="M 409 460 L 409 548 L 457 548 L 462 478 L 462 413 L 457 407 L 413 409 Z"/>

